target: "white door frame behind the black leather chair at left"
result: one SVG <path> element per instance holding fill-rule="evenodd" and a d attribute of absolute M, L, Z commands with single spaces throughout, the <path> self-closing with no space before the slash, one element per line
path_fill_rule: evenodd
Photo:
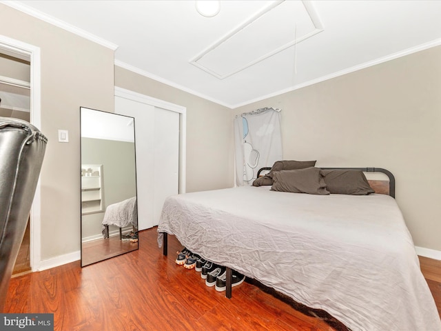
<path fill-rule="evenodd" d="M 41 52 L 40 48 L 0 34 L 0 50 L 30 59 L 30 123 L 41 128 Z M 41 175 L 30 210 L 30 267 L 41 265 Z"/>

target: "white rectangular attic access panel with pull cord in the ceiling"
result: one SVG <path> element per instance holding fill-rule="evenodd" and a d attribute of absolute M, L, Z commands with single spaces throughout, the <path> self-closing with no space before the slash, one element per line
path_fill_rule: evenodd
<path fill-rule="evenodd" d="M 224 79 L 322 30 L 311 2 L 279 0 L 228 32 L 190 63 Z"/>

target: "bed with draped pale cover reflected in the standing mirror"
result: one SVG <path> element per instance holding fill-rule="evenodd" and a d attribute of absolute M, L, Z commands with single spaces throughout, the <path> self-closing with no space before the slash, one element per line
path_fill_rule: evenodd
<path fill-rule="evenodd" d="M 115 225 L 119 228 L 119 239 L 123 238 L 123 228 L 127 225 L 132 225 L 132 229 L 136 231 L 138 227 L 137 215 L 136 197 L 108 205 L 101 223 L 104 239 L 109 238 L 109 225 Z"/>

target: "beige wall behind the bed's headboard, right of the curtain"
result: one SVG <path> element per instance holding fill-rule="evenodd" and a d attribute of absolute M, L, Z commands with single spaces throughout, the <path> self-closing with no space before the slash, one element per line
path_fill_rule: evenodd
<path fill-rule="evenodd" d="M 238 108 L 233 115 L 282 108 L 285 159 L 391 170 L 415 244 L 441 250 L 440 59 L 438 46 Z"/>

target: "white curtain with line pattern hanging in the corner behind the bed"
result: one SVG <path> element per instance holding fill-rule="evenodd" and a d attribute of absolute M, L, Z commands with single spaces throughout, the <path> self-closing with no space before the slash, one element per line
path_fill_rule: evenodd
<path fill-rule="evenodd" d="M 261 108 L 234 119 L 236 185 L 252 185 L 260 168 L 282 159 L 280 109 Z"/>

